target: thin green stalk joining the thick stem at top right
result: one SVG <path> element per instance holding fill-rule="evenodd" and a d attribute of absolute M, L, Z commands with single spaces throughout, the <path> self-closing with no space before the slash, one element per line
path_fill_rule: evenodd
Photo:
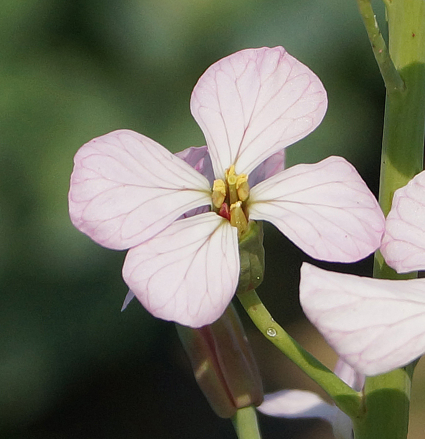
<path fill-rule="evenodd" d="M 363 19 L 367 35 L 372 44 L 373 54 L 381 71 L 385 87 L 391 91 L 404 90 L 404 82 L 389 56 L 370 1 L 357 0 L 357 5 L 359 6 L 361 18 Z"/>

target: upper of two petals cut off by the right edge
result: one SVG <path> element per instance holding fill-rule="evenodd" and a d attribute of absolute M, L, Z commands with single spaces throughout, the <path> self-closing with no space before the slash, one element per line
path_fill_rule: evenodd
<path fill-rule="evenodd" d="M 425 269 L 425 171 L 395 191 L 381 253 L 398 273 Z"/>

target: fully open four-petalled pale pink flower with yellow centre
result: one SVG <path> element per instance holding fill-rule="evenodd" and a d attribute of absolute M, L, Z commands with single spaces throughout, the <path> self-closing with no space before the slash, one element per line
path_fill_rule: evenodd
<path fill-rule="evenodd" d="M 230 55 L 191 95 L 208 155 L 192 148 L 182 160 L 129 130 L 93 139 L 74 159 L 71 220 L 99 244 L 129 249 L 123 278 L 150 313 L 193 327 L 220 317 L 239 276 L 232 206 L 211 209 L 212 180 L 248 176 L 244 214 L 272 222 L 310 256 L 362 259 L 380 243 L 383 215 L 354 167 L 331 157 L 281 171 L 279 152 L 313 131 L 326 105 L 318 77 L 282 47 Z"/>

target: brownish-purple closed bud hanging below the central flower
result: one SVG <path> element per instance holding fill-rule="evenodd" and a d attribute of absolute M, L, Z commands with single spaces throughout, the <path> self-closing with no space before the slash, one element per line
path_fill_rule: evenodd
<path fill-rule="evenodd" d="M 230 418 L 237 409 L 261 404 L 261 377 L 232 303 L 211 325 L 176 326 L 195 379 L 218 416 Z"/>

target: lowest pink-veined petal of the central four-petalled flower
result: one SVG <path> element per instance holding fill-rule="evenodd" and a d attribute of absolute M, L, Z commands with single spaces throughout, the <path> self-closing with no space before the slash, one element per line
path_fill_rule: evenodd
<path fill-rule="evenodd" d="M 130 249 L 123 278 L 155 317 L 201 327 L 218 319 L 239 277 L 237 229 L 213 212 L 172 223 Z"/>

